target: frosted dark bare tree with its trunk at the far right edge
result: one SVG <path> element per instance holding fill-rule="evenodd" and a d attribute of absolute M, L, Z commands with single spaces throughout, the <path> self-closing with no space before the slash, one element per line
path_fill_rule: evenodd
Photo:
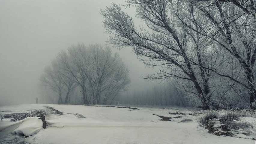
<path fill-rule="evenodd" d="M 241 13 L 241 8 L 236 7 L 235 5 L 228 5 L 225 3 L 211 4 L 210 1 L 206 1 L 195 5 L 196 7 L 190 6 L 190 13 L 192 15 L 204 18 L 204 26 L 201 26 L 201 21 L 192 18 L 180 20 L 189 29 L 205 36 L 205 41 L 213 41 L 218 47 L 231 55 L 225 56 L 226 58 L 232 59 L 231 73 L 226 73 L 230 71 L 231 63 L 222 63 L 227 64 L 226 66 L 223 66 L 223 68 L 227 68 L 224 69 L 224 71 L 221 71 L 219 67 L 204 68 L 212 70 L 219 76 L 224 76 L 244 86 L 249 92 L 250 108 L 255 109 L 253 106 L 256 100 L 254 78 L 254 63 L 256 58 L 255 22 L 252 21 L 248 15 Z M 204 5 L 208 6 L 203 7 Z M 178 16 L 179 13 L 176 13 L 176 15 Z M 193 25 L 188 21 L 192 22 Z M 197 29 L 197 26 L 200 27 L 201 31 Z M 242 68 L 242 73 L 244 73 L 246 77 L 236 77 L 233 75 L 233 60 L 235 60 L 238 66 Z M 237 65 L 235 67 L 238 70 L 240 69 Z"/>

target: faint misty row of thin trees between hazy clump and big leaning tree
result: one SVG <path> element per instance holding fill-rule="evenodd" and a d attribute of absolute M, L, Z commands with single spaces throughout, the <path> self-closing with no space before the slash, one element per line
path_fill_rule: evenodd
<path fill-rule="evenodd" d="M 114 99 L 116 105 L 129 106 L 194 106 L 188 104 L 181 91 L 171 83 L 153 85 L 152 88 L 124 92 Z"/>

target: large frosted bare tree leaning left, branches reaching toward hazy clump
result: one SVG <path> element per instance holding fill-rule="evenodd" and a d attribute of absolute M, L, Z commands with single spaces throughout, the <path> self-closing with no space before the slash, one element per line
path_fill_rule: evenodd
<path fill-rule="evenodd" d="M 167 79 L 177 77 L 193 83 L 194 90 L 187 91 L 197 95 L 204 109 L 209 109 L 210 91 L 208 80 L 210 72 L 208 67 L 202 62 L 202 47 L 199 45 L 200 35 L 193 31 L 188 31 L 186 26 L 179 21 L 179 17 L 169 13 L 169 1 L 163 0 L 128 0 L 129 3 L 137 7 L 137 18 L 143 19 L 146 25 L 153 31 L 150 33 L 145 28 L 137 30 L 134 21 L 126 13 L 121 11 L 121 7 L 112 4 L 101 10 L 104 16 L 104 28 L 106 33 L 113 34 L 114 37 L 108 39 L 109 44 L 117 47 L 131 46 L 134 53 L 149 66 L 161 66 L 159 73 L 147 76 L 147 79 Z M 192 51 L 195 49 L 195 53 Z M 191 61 L 200 63 L 194 65 Z M 200 75 L 197 71 L 200 70 Z M 202 82 L 201 82 L 202 81 Z M 202 85 L 203 83 L 203 85 Z"/>

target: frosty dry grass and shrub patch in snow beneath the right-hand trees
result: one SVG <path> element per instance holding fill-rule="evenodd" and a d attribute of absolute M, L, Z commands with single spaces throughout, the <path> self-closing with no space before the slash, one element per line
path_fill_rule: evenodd
<path fill-rule="evenodd" d="M 221 115 L 217 111 L 209 111 L 205 116 L 199 118 L 198 122 L 200 126 L 205 126 L 210 133 L 216 135 L 254 139 L 256 125 L 253 122 L 255 119 L 251 117 L 255 117 L 255 114 L 227 111 Z"/>

